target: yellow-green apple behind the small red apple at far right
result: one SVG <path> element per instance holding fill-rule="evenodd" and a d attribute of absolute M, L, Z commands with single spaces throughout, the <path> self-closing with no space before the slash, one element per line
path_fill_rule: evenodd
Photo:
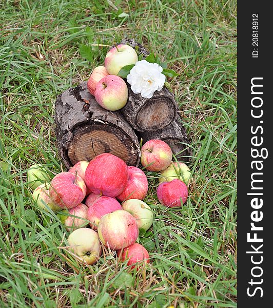
<path fill-rule="evenodd" d="M 183 181 L 187 186 L 190 183 L 190 169 L 182 162 L 172 162 L 165 170 L 160 172 L 159 182 L 170 182 L 174 179 Z"/>

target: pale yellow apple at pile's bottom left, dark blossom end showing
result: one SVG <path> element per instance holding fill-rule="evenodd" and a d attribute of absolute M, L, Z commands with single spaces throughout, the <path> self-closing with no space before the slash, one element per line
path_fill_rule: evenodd
<path fill-rule="evenodd" d="M 84 263 L 94 264 L 102 253 L 102 245 L 97 233 L 90 228 L 74 230 L 68 237 L 69 249 Z"/>

